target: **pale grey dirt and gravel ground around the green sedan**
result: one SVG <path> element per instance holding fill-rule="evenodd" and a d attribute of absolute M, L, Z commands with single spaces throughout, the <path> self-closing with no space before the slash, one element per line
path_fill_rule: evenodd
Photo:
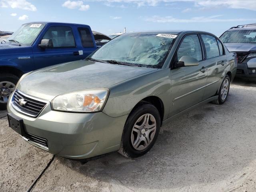
<path fill-rule="evenodd" d="M 27 191 L 52 159 L 8 128 L 0 111 L 0 192 Z M 256 83 L 235 80 L 224 105 L 206 104 L 162 127 L 145 156 L 86 164 L 58 156 L 31 191 L 256 191 Z"/>

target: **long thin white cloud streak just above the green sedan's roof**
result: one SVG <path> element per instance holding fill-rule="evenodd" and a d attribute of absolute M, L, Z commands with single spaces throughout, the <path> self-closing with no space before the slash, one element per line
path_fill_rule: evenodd
<path fill-rule="evenodd" d="M 157 23 L 205 23 L 205 22 L 233 22 L 233 21 L 248 21 L 252 19 L 221 19 L 222 15 L 214 15 L 210 17 L 193 17 L 190 19 L 178 19 L 172 16 L 160 17 L 160 16 L 152 16 L 146 17 L 144 20 L 150 22 L 157 22 Z"/>

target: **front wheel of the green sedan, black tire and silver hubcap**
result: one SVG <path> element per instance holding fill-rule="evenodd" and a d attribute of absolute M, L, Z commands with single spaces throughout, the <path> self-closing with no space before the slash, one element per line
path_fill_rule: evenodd
<path fill-rule="evenodd" d="M 149 102 L 140 102 L 126 120 L 118 152 L 128 158 L 146 154 L 156 142 L 160 124 L 157 108 Z"/>

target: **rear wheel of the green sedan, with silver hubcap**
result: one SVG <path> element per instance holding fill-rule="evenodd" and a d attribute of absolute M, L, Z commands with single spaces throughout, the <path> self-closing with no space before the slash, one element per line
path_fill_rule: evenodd
<path fill-rule="evenodd" d="M 228 98 L 229 88 L 230 88 L 230 77 L 226 75 L 220 86 L 220 90 L 218 92 L 218 99 L 213 100 L 212 103 L 217 105 L 224 104 L 224 102 Z"/>

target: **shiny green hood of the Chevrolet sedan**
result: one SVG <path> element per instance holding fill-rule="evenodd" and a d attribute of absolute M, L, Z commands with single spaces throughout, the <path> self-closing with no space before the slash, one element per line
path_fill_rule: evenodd
<path fill-rule="evenodd" d="M 50 101 L 60 94 L 77 90 L 109 88 L 154 70 L 157 69 L 79 60 L 30 72 L 21 80 L 18 89 Z"/>

